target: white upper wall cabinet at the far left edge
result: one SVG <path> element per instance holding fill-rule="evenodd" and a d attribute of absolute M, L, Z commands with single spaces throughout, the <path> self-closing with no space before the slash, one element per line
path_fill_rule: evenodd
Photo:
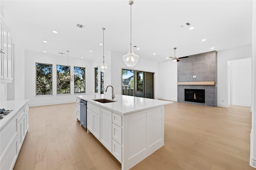
<path fill-rule="evenodd" d="M 12 49 L 12 34 L 2 21 L 0 20 L 0 47 L 4 53 L 0 59 L 0 79 L 1 82 L 12 82 L 13 77 L 13 49 Z"/>

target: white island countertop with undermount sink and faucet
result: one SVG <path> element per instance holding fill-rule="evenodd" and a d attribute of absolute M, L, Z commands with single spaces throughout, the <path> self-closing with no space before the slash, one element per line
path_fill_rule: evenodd
<path fill-rule="evenodd" d="M 86 100 L 87 102 L 94 104 L 96 106 L 99 106 L 123 115 L 173 103 L 170 101 L 140 98 L 140 97 L 134 97 L 134 96 L 120 95 L 120 94 L 116 94 L 116 97 L 114 98 L 114 100 L 116 100 L 117 102 L 111 102 L 111 103 L 100 103 L 92 100 L 92 99 L 103 99 L 103 98 L 111 100 L 112 99 L 111 95 L 91 94 L 91 95 L 79 95 L 76 97 Z"/>

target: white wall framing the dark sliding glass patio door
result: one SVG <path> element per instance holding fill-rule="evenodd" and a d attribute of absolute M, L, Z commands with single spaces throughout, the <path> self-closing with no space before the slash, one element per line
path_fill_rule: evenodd
<path fill-rule="evenodd" d="M 123 56 L 124 54 L 111 52 L 111 84 L 114 87 L 115 94 L 122 94 L 122 68 L 130 70 L 140 70 L 145 72 L 155 73 L 155 98 L 159 98 L 159 85 L 158 85 L 158 63 L 154 61 L 149 61 L 145 59 L 139 59 L 138 63 L 134 67 L 128 67 L 124 64 Z"/>

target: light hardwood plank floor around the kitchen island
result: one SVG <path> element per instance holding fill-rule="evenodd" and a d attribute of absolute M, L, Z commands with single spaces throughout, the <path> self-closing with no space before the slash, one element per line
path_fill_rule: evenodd
<path fill-rule="evenodd" d="M 121 164 L 76 121 L 76 105 L 30 107 L 14 170 L 120 170 Z M 165 106 L 165 145 L 131 170 L 255 170 L 250 107 Z"/>

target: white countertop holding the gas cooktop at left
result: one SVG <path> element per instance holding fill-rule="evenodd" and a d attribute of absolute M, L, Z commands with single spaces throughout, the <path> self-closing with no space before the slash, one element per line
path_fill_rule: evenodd
<path fill-rule="evenodd" d="M 0 108 L 8 109 L 8 110 L 13 110 L 11 111 L 8 115 L 6 115 L 4 118 L 0 119 L 0 129 L 6 125 L 14 117 L 17 112 L 20 110 L 21 107 L 24 106 L 28 102 L 27 99 L 23 100 L 6 100 L 6 101 L 1 101 L 0 102 Z"/>

